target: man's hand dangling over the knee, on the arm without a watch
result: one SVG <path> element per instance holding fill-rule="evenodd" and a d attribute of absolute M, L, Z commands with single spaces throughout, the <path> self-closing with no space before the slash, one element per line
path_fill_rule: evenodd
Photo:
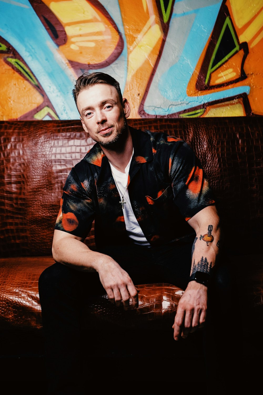
<path fill-rule="evenodd" d="M 129 274 L 114 259 L 104 255 L 101 264 L 97 267 L 97 272 L 99 273 L 101 284 L 112 303 L 120 306 L 122 300 L 124 310 L 128 310 L 131 295 L 133 307 L 138 308 L 138 290 Z"/>

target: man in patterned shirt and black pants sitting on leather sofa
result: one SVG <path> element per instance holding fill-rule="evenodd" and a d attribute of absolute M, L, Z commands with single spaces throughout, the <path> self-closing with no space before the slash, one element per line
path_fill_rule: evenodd
<path fill-rule="evenodd" d="M 39 278 L 49 394 L 85 393 L 80 312 L 85 296 L 138 307 L 136 283 L 171 282 L 183 293 L 173 337 L 203 327 L 218 260 L 220 225 L 201 164 L 181 139 L 128 126 L 118 82 L 85 73 L 73 89 L 85 132 L 97 143 L 63 188 L 52 253 Z M 96 250 L 83 241 L 95 218 Z"/>

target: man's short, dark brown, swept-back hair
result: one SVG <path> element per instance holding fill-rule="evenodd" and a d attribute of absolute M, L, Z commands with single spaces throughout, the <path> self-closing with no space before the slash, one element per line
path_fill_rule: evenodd
<path fill-rule="evenodd" d="M 121 88 L 119 87 L 118 81 L 114 79 L 111 75 L 106 73 L 94 72 L 94 73 L 84 73 L 78 77 L 76 80 L 75 88 L 72 90 L 73 98 L 75 100 L 75 104 L 77 105 L 78 94 L 86 88 L 92 87 L 96 84 L 107 84 L 112 85 L 112 87 L 116 88 L 119 99 L 122 103 L 122 94 Z"/>

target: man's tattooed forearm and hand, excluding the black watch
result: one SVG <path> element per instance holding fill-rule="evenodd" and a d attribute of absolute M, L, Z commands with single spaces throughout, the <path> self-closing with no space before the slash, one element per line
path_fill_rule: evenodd
<path fill-rule="evenodd" d="M 196 231 L 192 248 L 191 273 L 209 273 L 218 259 L 220 224 L 215 206 L 208 206 L 194 215 L 188 223 Z M 190 332 L 203 326 L 207 311 L 207 286 L 191 281 L 183 293 L 175 315 L 173 337 L 186 338 Z"/>

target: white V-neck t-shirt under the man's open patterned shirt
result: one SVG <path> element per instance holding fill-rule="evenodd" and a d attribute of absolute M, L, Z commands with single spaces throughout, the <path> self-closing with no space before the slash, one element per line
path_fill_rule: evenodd
<path fill-rule="evenodd" d="M 148 243 L 147 239 L 145 238 L 144 233 L 142 232 L 142 229 L 140 228 L 140 225 L 138 224 L 138 221 L 136 220 L 136 217 L 132 211 L 131 201 L 129 198 L 129 192 L 128 192 L 128 189 L 126 190 L 131 160 L 132 160 L 132 156 L 131 156 L 130 162 L 125 167 L 125 173 L 121 173 L 121 171 L 117 170 L 114 166 L 112 166 L 111 163 L 110 163 L 110 168 L 111 168 L 112 174 L 114 176 L 113 178 L 115 179 L 114 181 L 117 184 L 116 186 L 117 186 L 117 189 L 119 192 L 120 200 L 123 196 L 123 199 L 126 202 L 123 205 L 123 207 L 124 207 L 123 208 L 123 216 L 124 216 L 125 227 L 126 227 L 128 236 L 132 239 L 134 244 L 149 246 L 150 244 Z M 125 192 L 125 190 L 126 190 L 126 192 Z"/>

